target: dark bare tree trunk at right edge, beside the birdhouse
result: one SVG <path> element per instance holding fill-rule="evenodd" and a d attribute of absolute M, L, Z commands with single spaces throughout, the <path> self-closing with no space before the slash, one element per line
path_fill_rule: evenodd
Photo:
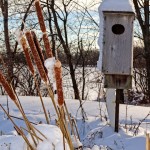
<path fill-rule="evenodd" d="M 141 27 L 146 61 L 146 95 L 150 100 L 150 2 L 149 0 L 133 0 L 137 19 Z"/>

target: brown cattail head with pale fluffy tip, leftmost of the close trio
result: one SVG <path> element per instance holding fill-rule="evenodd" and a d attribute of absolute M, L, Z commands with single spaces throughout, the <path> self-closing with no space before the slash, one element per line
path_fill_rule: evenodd
<path fill-rule="evenodd" d="M 29 48 L 27 46 L 27 42 L 26 42 L 26 39 L 25 39 L 24 36 L 21 37 L 20 44 L 22 45 L 22 48 L 24 50 L 24 54 L 25 54 L 26 61 L 27 61 L 27 64 L 29 66 L 29 69 L 30 69 L 31 73 L 34 75 L 34 67 L 33 67 L 32 60 L 31 60 L 31 57 L 30 57 L 30 54 L 29 54 Z"/>

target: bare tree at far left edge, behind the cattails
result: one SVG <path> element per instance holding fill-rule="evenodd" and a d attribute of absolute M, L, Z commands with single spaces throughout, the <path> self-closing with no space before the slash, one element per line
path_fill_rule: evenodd
<path fill-rule="evenodd" d="M 2 44 L 5 45 L 3 51 L 6 52 L 5 55 L 5 62 L 7 66 L 7 78 L 9 82 L 12 82 L 12 86 L 15 88 L 14 79 L 17 77 L 15 76 L 14 72 L 14 66 L 15 66 L 15 59 L 16 59 L 16 53 L 18 51 L 18 42 L 15 41 L 15 36 L 12 31 L 16 30 L 17 28 L 17 21 L 20 19 L 17 19 L 17 15 L 23 14 L 23 18 L 21 20 L 21 27 L 20 29 L 24 29 L 23 22 L 26 21 L 30 7 L 32 6 L 34 0 L 31 0 L 30 2 L 26 3 L 25 8 L 23 8 L 23 5 L 17 3 L 14 0 L 8 1 L 8 0 L 0 0 L 0 9 L 3 16 L 3 31 L 1 32 L 2 35 L 4 35 L 4 38 L 2 38 Z M 19 10 L 19 8 L 22 8 Z M 15 10 L 13 10 L 15 9 Z M 16 10 L 19 10 L 17 12 Z M 14 22 L 16 20 L 16 22 Z M 12 22 L 12 23 L 11 23 Z M 10 26 L 11 24 L 11 26 Z M 14 25 L 14 26 L 13 26 Z M 4 40 L 3 40 L 4 39 Z M 2 49 L 1 49 L 2 50 Z"/>

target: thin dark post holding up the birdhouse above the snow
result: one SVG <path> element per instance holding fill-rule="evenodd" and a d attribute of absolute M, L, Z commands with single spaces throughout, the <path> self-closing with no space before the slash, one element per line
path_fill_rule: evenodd
<path fill-rule="evenodd" d="M 115 132 L 119 130 L 119 101 L 121 98 L 121 89 L 116 89 L 116 110 L 115 110 Z"/>

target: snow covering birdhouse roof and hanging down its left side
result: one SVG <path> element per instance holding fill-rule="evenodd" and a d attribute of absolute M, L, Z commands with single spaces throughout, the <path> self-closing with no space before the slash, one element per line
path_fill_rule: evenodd
<path fill-rule="evenodd" d="M 97 68 L 102 72 L 102 54 L 103 54 L 103 33 L 104 33 L 104 16 L 103 11 L 116 11 L 116 12 L 135 12 L 134 6 L 131 0 L 103 0 L 98 8 L 99 12 L 99 60 L 97 62 Z"/>

